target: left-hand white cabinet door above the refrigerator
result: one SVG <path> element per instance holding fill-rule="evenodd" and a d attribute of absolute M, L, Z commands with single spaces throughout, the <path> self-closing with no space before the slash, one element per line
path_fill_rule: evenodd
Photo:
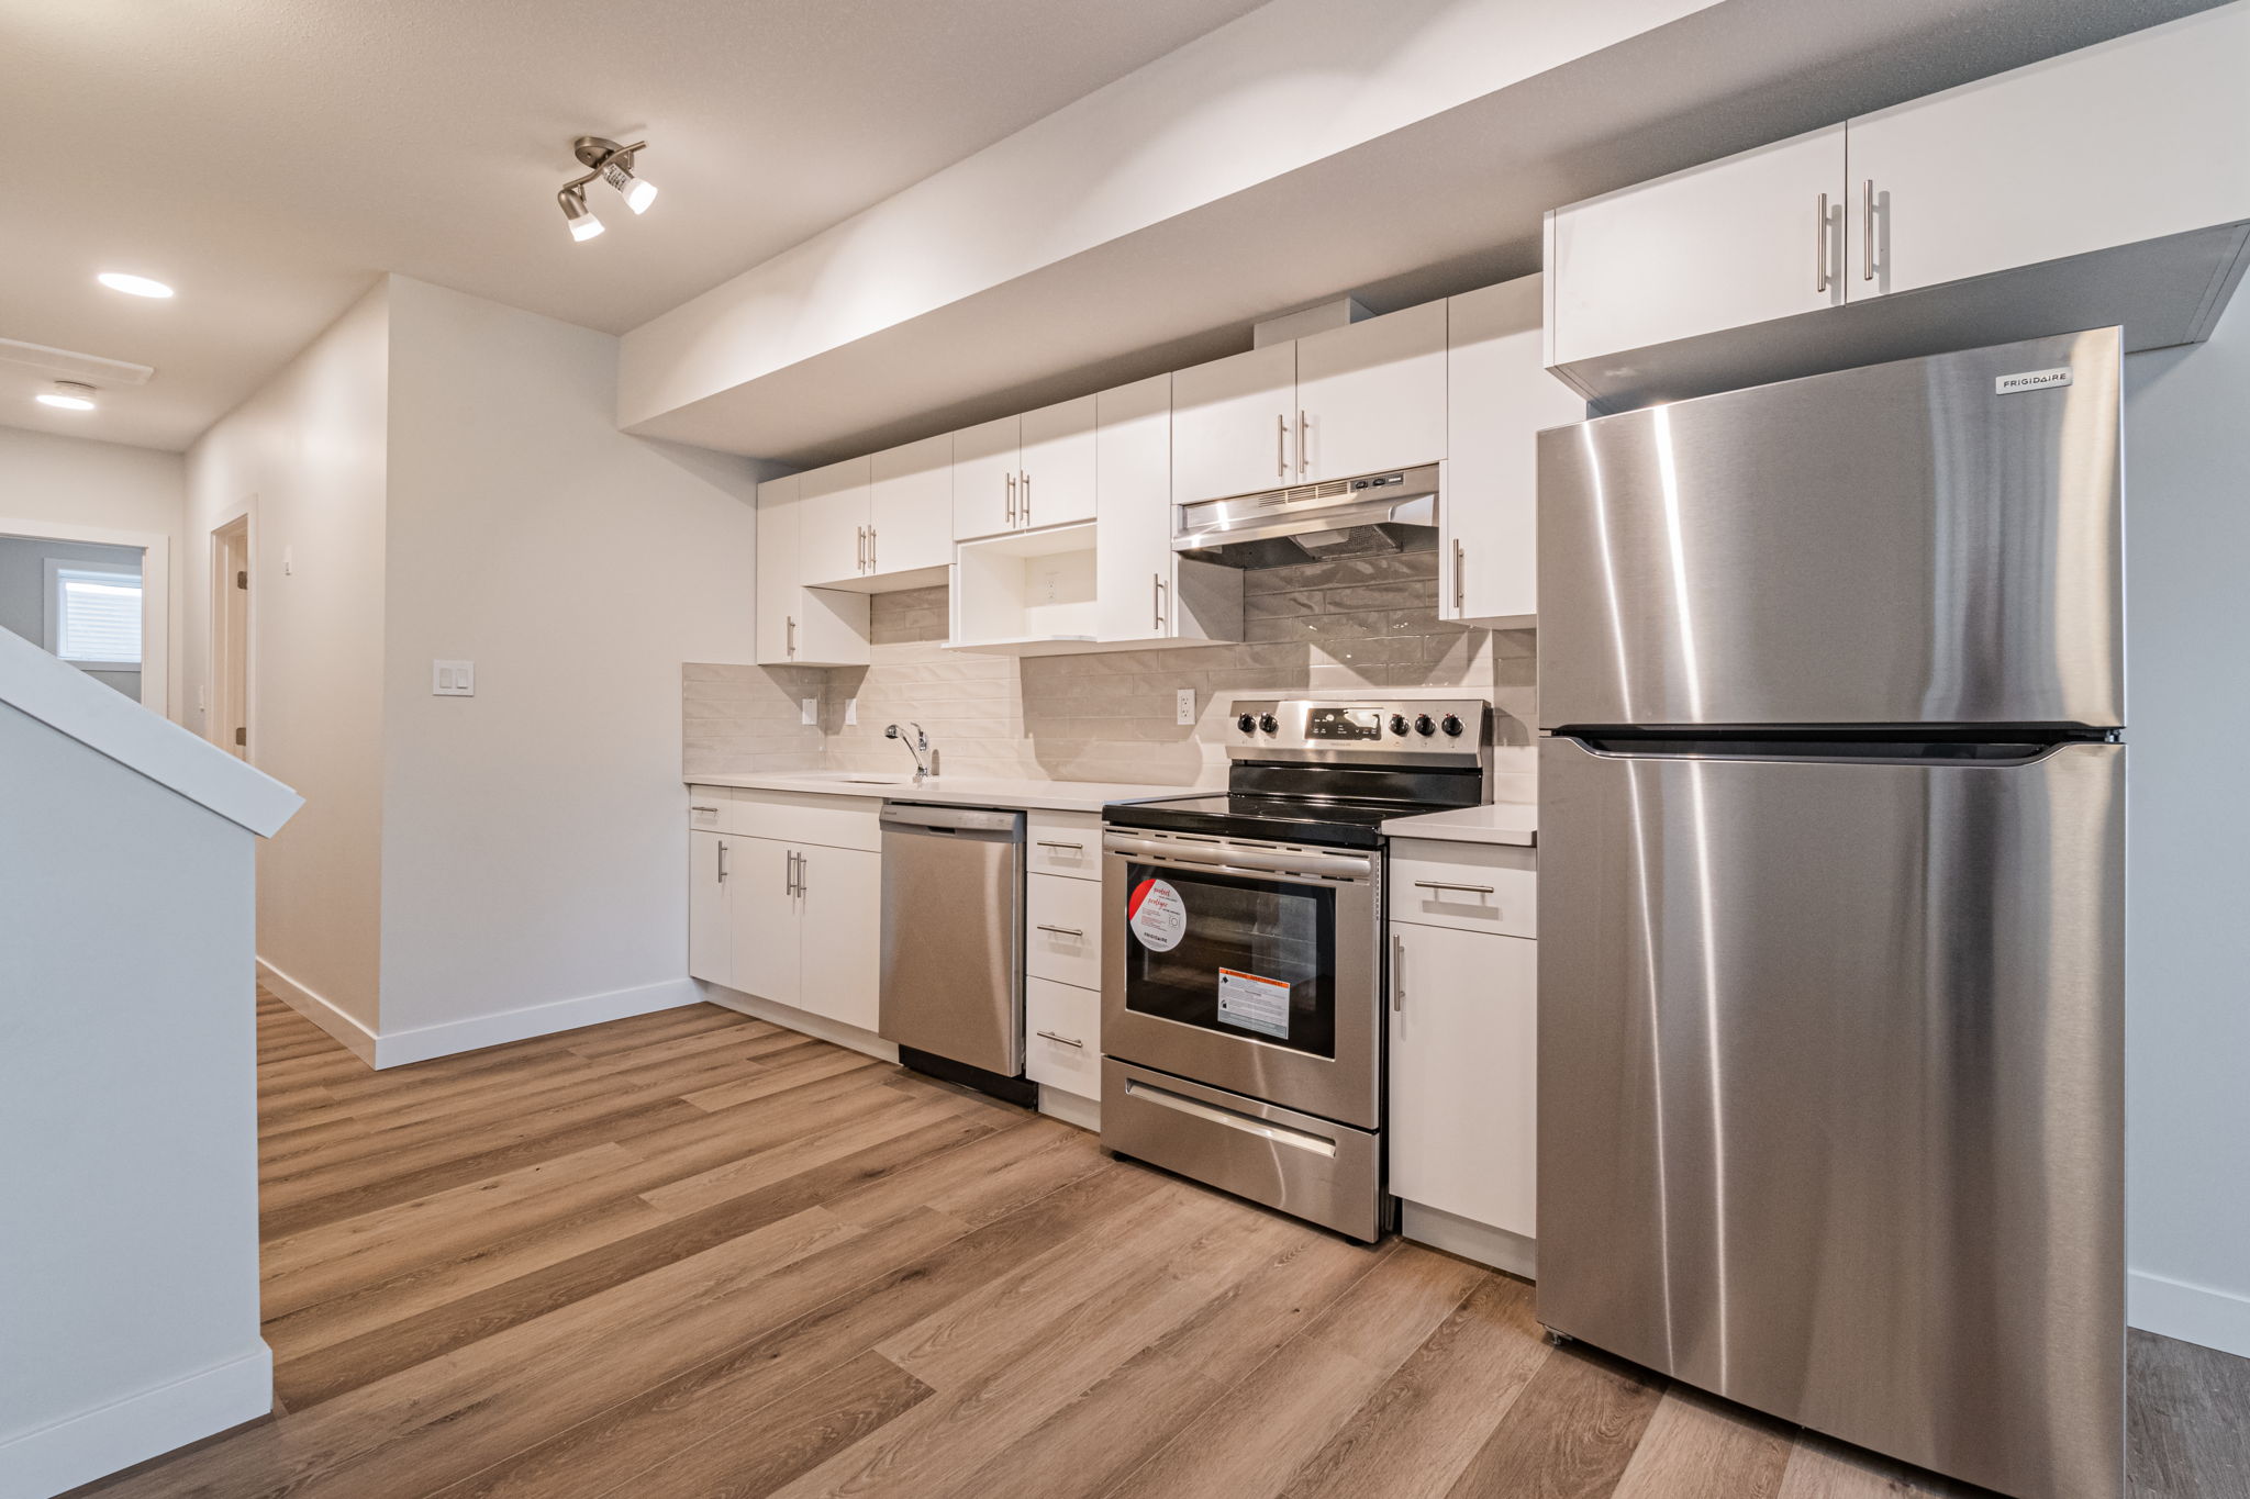
<path fill-rule="evenodd" d="M 1555 209 L 1550 364 L 1840 303 L 1843 133 L 1827 126 Z"/>

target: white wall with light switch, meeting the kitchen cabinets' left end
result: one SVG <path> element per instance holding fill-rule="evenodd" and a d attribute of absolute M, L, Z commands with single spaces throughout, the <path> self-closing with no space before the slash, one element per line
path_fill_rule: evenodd
<path fill-rule="evenodd" d="M 610 335 L 389 315 L 382 1061 L 691 1002 L 680 667 L 754 658 L 765 470 L 619 434 Z"/>

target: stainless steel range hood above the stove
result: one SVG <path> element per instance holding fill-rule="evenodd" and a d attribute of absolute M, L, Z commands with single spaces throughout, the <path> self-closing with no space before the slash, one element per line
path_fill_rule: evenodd
<path fill-rule="evenodd" d="M 1174 553 L 1240 569 L 1436 546 L 1436 463 L 1172 506 Z"/>

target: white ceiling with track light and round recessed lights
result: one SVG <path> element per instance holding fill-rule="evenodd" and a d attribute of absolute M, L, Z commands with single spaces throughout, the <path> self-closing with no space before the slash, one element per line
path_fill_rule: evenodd
<path fill-rule="evenodd" d="M 0 0 L 0 337 L 158 366 L 0 425 L 187 447 L 387 270 L 621 333 L 1256 2 Z M 662 196 L 574 245 L 583 133 Z"/>

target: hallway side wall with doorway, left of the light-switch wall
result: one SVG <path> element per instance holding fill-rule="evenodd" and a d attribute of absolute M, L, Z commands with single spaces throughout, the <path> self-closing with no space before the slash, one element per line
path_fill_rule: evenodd
<path fill-rule="evenodd" d="M 362 1052 L 380 973 L 387 321 L 376 285 L 189 449 L 182 566 L 198 688 L 212 530 L 250 508 L 250 760 L 306 798 L 259 850 L 259 957 Z"/>

